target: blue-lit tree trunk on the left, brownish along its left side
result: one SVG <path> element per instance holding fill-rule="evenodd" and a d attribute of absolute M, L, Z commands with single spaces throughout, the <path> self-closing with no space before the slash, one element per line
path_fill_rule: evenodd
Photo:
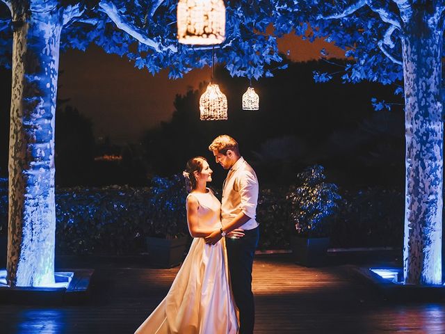
<path fill-rule="evenodd" d="M 56 1 L 17 9 L 24 2 L 13 4 L 7 279 L 10 286 L 41 287 L 54 283 L 54 125 L 62 19 Z"/>

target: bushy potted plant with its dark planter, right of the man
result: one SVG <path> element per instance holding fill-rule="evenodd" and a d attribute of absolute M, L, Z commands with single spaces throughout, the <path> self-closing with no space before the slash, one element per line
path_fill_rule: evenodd
<path fill-rule="evenodd" d="M 296 229 L 291 248 L 296 262 L 312 267 L 325 263 L 330 222 L 341 196 L 337 185 L 325 182 L 322 166 L 310 166 L 297 177 L 299 184 L 286 195 L 289 218 Z"/>

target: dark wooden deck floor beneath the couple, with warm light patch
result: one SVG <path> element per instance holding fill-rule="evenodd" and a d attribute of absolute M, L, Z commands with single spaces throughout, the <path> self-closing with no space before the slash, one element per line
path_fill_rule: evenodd
<path fill-rule="evenodd" d="M 100 267 L 84 305 L 0 304 L 0 333 L 133 333 L 177 270 Z M 445 333 L 445 304 L 385 303 L 341 266 L 307 269 L 286 255 L 257 257 L 253 287 L 258 334 Z"/>

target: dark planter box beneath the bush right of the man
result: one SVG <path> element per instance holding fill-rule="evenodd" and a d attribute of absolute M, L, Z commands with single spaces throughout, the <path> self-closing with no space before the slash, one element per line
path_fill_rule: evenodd
<path fill-rule="evenodd" d="M 305 267 L 323 266 L 327 262 L 329 242 L 329 238 L 293 236 L 291 238 L 293 260 Z"/>

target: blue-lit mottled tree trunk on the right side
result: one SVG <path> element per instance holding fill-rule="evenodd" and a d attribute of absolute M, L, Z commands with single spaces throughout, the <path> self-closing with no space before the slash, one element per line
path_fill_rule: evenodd
<path fill-rule="evenodd" d="M 405 79 L 405 237 L 407 284 L 442 283 L 442 38 L 421 13 L 403 31 Z"/>

